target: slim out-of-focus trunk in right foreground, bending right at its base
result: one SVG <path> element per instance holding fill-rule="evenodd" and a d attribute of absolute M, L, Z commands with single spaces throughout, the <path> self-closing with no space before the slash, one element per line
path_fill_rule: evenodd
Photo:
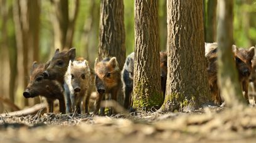
<path fill-rule="evenodd" d="M 235 70 L 233 43 L 233 0 L 218 1 L 218 86 L 226 105 L 235 107 L 238 103 L 245 103 L 242 89 Z"/>

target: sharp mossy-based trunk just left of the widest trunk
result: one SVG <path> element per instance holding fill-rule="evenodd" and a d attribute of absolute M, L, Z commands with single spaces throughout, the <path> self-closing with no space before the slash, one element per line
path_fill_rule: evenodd
<path fill-rule="evenodd" d="M 134 109 L 159 109 L 163 103 L 157 12 L 157 1 L 135 1 Z"/>

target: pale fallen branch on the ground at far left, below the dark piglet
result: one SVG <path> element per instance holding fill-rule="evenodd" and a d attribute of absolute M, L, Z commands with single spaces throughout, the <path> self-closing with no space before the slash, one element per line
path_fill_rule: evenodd
<path fill-rule="evenodd" d="M 6 117 L 6 116 L 23 116 L 23 115 L 31 115 L 36 114 L 39 110 L 46 109 L 47 104 L 46 103 L 38 103 L 34 105 L 33 107 L 30 107 L 28 109 L 23 109 L 19 111 L 9 112 L 6 114 L 0 114 L 0 117 Z"/>

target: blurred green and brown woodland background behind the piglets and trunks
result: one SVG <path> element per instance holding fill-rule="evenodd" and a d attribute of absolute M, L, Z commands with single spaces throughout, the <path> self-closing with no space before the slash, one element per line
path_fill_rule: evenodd
<path fill-rule="evenodd" d="M 205 3 L 205 28 L 211 25 Z M 214 4 L 214 3 L 213 3 Z M 235 0 L 234 40 L 239 47 L 256 43 L 256 1 Z M 0 97 L 19 108 L 40 102 L 22 95 L 33 61 L 45 63 L 56 48 L 77 49 L 93 66 L 99 46 L 100 0 L 0 0 Z M 126 55 L 134 51 L 134 0 L 124 0 Z M 166 0 L 159 0 L 160 48 L 166 48 Z M 206 31 L 207 33 L 207 31 Z M 215 36 L 213 37 L 213 41 Z M 67 40 L 66 40 L 67 39 Z M 211 42 L 207 40 L 206 42 Z M 184 59 L 186 60 L 186 59 Z M 0 102 L 0 113 L 11 110 Z"/>

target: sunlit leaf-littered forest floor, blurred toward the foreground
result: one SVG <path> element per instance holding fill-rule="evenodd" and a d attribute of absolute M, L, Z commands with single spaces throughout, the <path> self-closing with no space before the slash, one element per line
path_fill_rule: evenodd
<path fill-rule="evenodd" d="M 256 142 L 255 107 L 0 118 L 0 142 Z"/>

